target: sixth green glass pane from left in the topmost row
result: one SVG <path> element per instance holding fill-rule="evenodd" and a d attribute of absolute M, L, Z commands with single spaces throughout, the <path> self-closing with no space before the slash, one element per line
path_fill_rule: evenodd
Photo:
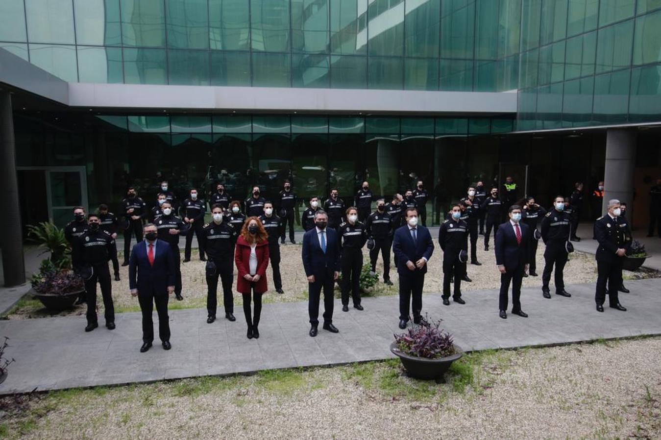
<path fill-rule="evenodd" d="M 209 0 L 212 49 L 250 49 L 250 8 L 246 0 Z"/>

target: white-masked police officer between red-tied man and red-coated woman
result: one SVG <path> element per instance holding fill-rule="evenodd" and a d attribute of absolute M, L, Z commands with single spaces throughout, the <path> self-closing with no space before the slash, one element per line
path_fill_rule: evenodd
<path fill-rule="evenodd" d="M 218 278 L 223 284 L 223 306 L 225 318 L 236 321 L 234 317 L 234 297 L 232 295 L 232 282 L 234 272 L 234 243 L 237 231 L 227 221 L 223 221 L 225 208 L 220 203 L 211 207 L 212 222 L 204 226 L 202 237 L 204 250 L 209 257 L 206 265 L 207 281 L 207 323 L 215 321 L 217 309 Z"/>

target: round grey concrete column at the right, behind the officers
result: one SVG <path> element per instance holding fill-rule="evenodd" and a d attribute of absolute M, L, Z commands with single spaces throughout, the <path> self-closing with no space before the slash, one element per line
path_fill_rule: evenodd
<path fill-rule="evenodd" d="M 611 199 L 617 199 L 633 206 L 636 138 L 636 131 L 631 129 L 608 129 L 606 131 L 602 214 L 608 209 L 608 201 Z"/>

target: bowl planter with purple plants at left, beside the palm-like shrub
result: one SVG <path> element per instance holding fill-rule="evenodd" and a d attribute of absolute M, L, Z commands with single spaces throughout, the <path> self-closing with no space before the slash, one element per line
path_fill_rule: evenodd
<path fill-rule="evenodd" d="M 49 259 L 42 260 L 39 273 L 32 276 L 30 284 L 34 298 L 50 311 L 70 309 L 85 291 L 83 278 L 69 268 L 56 267 Z"/>

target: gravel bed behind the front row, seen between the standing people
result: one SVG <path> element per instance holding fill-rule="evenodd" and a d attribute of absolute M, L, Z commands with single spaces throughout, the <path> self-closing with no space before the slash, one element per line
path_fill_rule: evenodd
<path fill-rule="evenodd" d="M 462 291 L 479 290 L 479 289 L 496 289 L 500 287 L 500 276 L 496 268 L 496 259 L 494 252 L 484 251 L 483 237 L 478 241 L 477 257 L 482 266 L 468 265 L 468 276 L 472 278 L 473 282 L 462 282 Z M 493 239 L 492 239 L 493 241 Z M 438 241 L 434 243 L 436 249 L 432 259 L 430 259 L 428 274 L 425 278 L 424 292 L 442 292 L 443 290 L 443 254 L 438 246 Z M 493 245 L 491 245 L 493 249 Z M 307 299 L 307 278 L 303 272 L 303 265 L 301 263 L 301 245 L 281 245 L 280 252 L 282 261 L 280 263 L 280 272 L 282 274 L 284 294 L 277 294 L 274 290 L 272 280 L 272 271 L 269 267 L 267 272 L 268 287 L 270 292 L 264 296 L 264 302 L 280 302 L 280 301 L 303 301 Z M 183 253 L 183 251 L 182 251 Z M 537 273 L 539 276 L 529 276 L 524 278 L 524 287 L 541 286 L 541 273 L 544 268 L 544 244 L 540 242 L 539 249 L 537 249 Z M 363 249 L 364 262 L 369 263 L 368 249 Z M 188 308 L 188 307 L 206 307 L 206 279 L 204 276 L 205 263 L 200 261 L 197 252 L 192 252 L 193 259 L 188 263 L 182 263 L 182 296 L 183 301 L 171 300 L 169 307 Z M 183 258 L 183 256 L 182 256 Z M 122 256 L 120 255 L 120 262 Z M 391 262 L 392 264 L 392 262 Z M 112 268 L 111 268 L 112 272 Z M 391 267 L 390 274 L 394 286 L 387 286 L 383 284 L 383 262 L 379 257 L 377 262 L 377 274 L 379 274 L 379 282 L 367 292 L 370 296 L 381 295 L 397 295 L 399 292 L 397 281 L 397 270 Z M 121 311 L 137 311 L 139 305 L 137 298 L 130 295 L 128 289 L 128 267 L 120 267 L 121 281 L 112 281 L 112 297 L 114 299 L 115 310 Z M 236 276 L 236 274 L 235 274 Z M 649 276 L 649 274 L 641 272 L 625 272 L 625 278 L 637 278 L 641 276 Z M 597 279 L 597 265 L 594 260 L 594 255 L 582 252 L 574 252 L 570 255 L 570 261 L 564 268 L 564 282 L 565 284 L 578 284 L 585 282 L 596 282 Z M 234 285 L 236 286 L 236 280 Z M 551 289 L 553 290 L 553 277 L 551 278 Z M 221 290 L 219 286 L 219 290 Z M 336 290 L 336 295 L 339 298 L 339 290 Z M 570 292 L 571 293 L 571 292 Z M 235 296 L 237 296 L 235 292 Z M 239 299 L 240 299 L 239 295 Z M 221 298 L 221 297 L 220 297 Z M 100 289 L 97 287 L 97 307 L 99 315 L 102 315 L 103 304 L 100 296 Z M 85 306 L 78 306 L 69 311 L 59 313 L 59 315 L 85 315 Z M 22 301 L 19 307 L 9 314 L 9 319 L 26 319 L 34 317 L 50 317 L 52 314 L 46 311 L 39 301 Z"/>

